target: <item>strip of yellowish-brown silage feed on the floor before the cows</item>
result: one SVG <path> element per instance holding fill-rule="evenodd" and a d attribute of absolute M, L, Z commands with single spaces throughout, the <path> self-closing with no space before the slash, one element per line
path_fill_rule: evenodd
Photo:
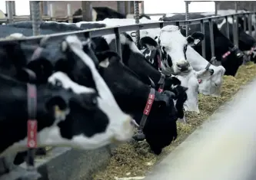
<path fill-rule="evenodd" d="M 136 180 L 143 179 L 153 165 L 161 161 L 176 146 L 191 134 L 194 129 L 208 119 L 215 110 L 237 93 L 242 85 L 256 77 L 256 65 L 248 63 L 239 68 L 236 77 L 224 76 L 221 97 L 209 97 L 199 94 L 200 114 L 186 112 L 187 124 L 178 123 L 178 138 L 166 147 L 161 155 L 148 152 L 147 142 L 131 142 L 119 146 L 112 153 L 108 167 L 93 175 L 94 180 Z"/>

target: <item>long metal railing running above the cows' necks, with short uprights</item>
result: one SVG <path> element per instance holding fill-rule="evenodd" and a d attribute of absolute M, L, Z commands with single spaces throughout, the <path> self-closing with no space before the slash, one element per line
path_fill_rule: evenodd
<path fill-rule="evenodd" d="M 177 25 L 177 26 L 184 26 L 184 25 L 201 25 L 201 31 L 204 32 L 204 23 L 209 22 L 210 25 L 210 37 L 211 37 L 211 56 L 214 56 L 214 32 L 212 31 L 212 23 L 216 20 L 222 20 L 228 18 L 233 19 L 233 34 L 234 34 L 234 42 L 238 41 L 238 31 L 236 31 L 236 18 L 238 16 L 247 16 L 251 20 L 251 15 L 256 15 L 256 12 L 244 12 L 244 13 L 236 13 L 234 15 L 224 15 L 224 16 L 212 16 L 207 18 L 198 18 L 198 19 L 191 19 L 188 21 L 163 21 L 163 22 L 154 22 L 154 23 L 146 23 L 146 24 L 137 24 L 137 25 L 125 25 L 125 26 L 116 26 L 111 28 L 98 28 L 93 30 L 83 30 L 83 31 L 72 31 L 72 32 L 64 32 L 64 33 L 57 33 L 57 34 L 49 34 L 48 37 L 57 37 L 57 36 L 65 36 L 68 34 L 79 34 L 84 35 L 87 38 L 94 38 L 98 36 L 103 36 L 107 34 L 115 34 L 116 36 L 116 47 L 120 47 L 120 41 L 119 41 L 119 34 L 125 31 L 139 31 L 144 29 L 150 29 L 150 28 L 162 28 L 166 25 Z M 1 21 L 1 19 L 0 19 Z M 256 24 L 254 25 L 256 27 Z M 226 26 L 226 36 L 229 38 L 229 31 L 228 25 Z M 251 34 L 251 21 L 248 21 L 248 27 L 249 27 L 249 33 Z M 36 37 L 27 37 L 22 38 L 21 40 L 32 40 L 32 39 L 40 39 L 45 37 L 45 35 L 40 35 Z M 18 40 L 2 40 L 2 41 L 18 41 Z M 238 46 L 238 44 L 236 44 Z M 205 58 L 205 42 L 202 42 L 202 56 Z M 121 54 L 121 49 L 118 48 L 118 54 Z"/>

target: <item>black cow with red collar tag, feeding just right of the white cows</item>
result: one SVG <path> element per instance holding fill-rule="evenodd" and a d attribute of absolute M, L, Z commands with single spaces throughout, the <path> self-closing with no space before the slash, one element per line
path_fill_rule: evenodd
<path fill-rule="evenodd" d="M 204 15 L 192 14 L 190 16 L 191 19 L 195 18 L 205 18 Z M 165 17 L 163 21 L 184 21 L 185 15 L 174 15 L 172 17 Z M 194 31 L 200 31 L 201 26 L 198 25 L 190 25 L 190 30 L 188 34 L 192 34 Z M 244 61 L 244 54 L 235 47 L 234 44 L 218 30 L 218 26 L 213 22 L 213 32 L 214 32 L 214 52 L 215 57 L 217 57 L 218 61 L 221 61 L 222 66 L 225 68 L 225 74 L 234 76 L 238 67 Z M 185 36 L 185 29 L 181 28 L 181 34 Z M 209 23 L 204 23 L 204 41 L 205 41 L 205 53 L 206 59 L 208 61 L 211 60 L 211 41 L 210 41 L 210 27 Z M 193 47 L 195 51 L 201 53 L 201 44 L 198 44 Z"/>

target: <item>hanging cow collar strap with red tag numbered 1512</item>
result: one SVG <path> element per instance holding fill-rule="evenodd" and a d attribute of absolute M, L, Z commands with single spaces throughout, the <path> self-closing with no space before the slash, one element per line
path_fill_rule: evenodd
<path fill-rule="evenodd" d="M 148 115 L 151 111 L 151 106 L 153 105 L 155 100 L 155 89 L 151 87 L 150 93 L 148 95 L 148 101 L 146 103 L 145 109 L 143 111 L 143 116 L 141 118 L 141 123 L 138 126 L 138 133 L 133 137 L 137 141 L 143 141 L 145 139 L 145 134 L 143 133 L 143 128 L 148 119 Z"/>

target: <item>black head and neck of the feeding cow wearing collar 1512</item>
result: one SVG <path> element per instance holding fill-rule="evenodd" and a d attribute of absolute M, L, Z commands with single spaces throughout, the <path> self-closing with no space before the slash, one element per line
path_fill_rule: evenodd
<path fill-rule="evenodd" d="M 118 54 L 108 53 L 108 55 L 108 65 L 100 65 L 99 72 L 108 83 L 121 110 L 131 114 L 139 124 L 150 87 L 142 82 L 134 71 L 121 63 Z M 105 59 L 105 55 L 98 54 L 100 62 Z M 143 129 L 145 139 L 156 154 L 161 153 L 161 149 L 168 146 L 177 136 L 177 110 L 173 102 L 175 94 L 171 92 L 170 94 L 155 92 L 155 101 Z"/>

